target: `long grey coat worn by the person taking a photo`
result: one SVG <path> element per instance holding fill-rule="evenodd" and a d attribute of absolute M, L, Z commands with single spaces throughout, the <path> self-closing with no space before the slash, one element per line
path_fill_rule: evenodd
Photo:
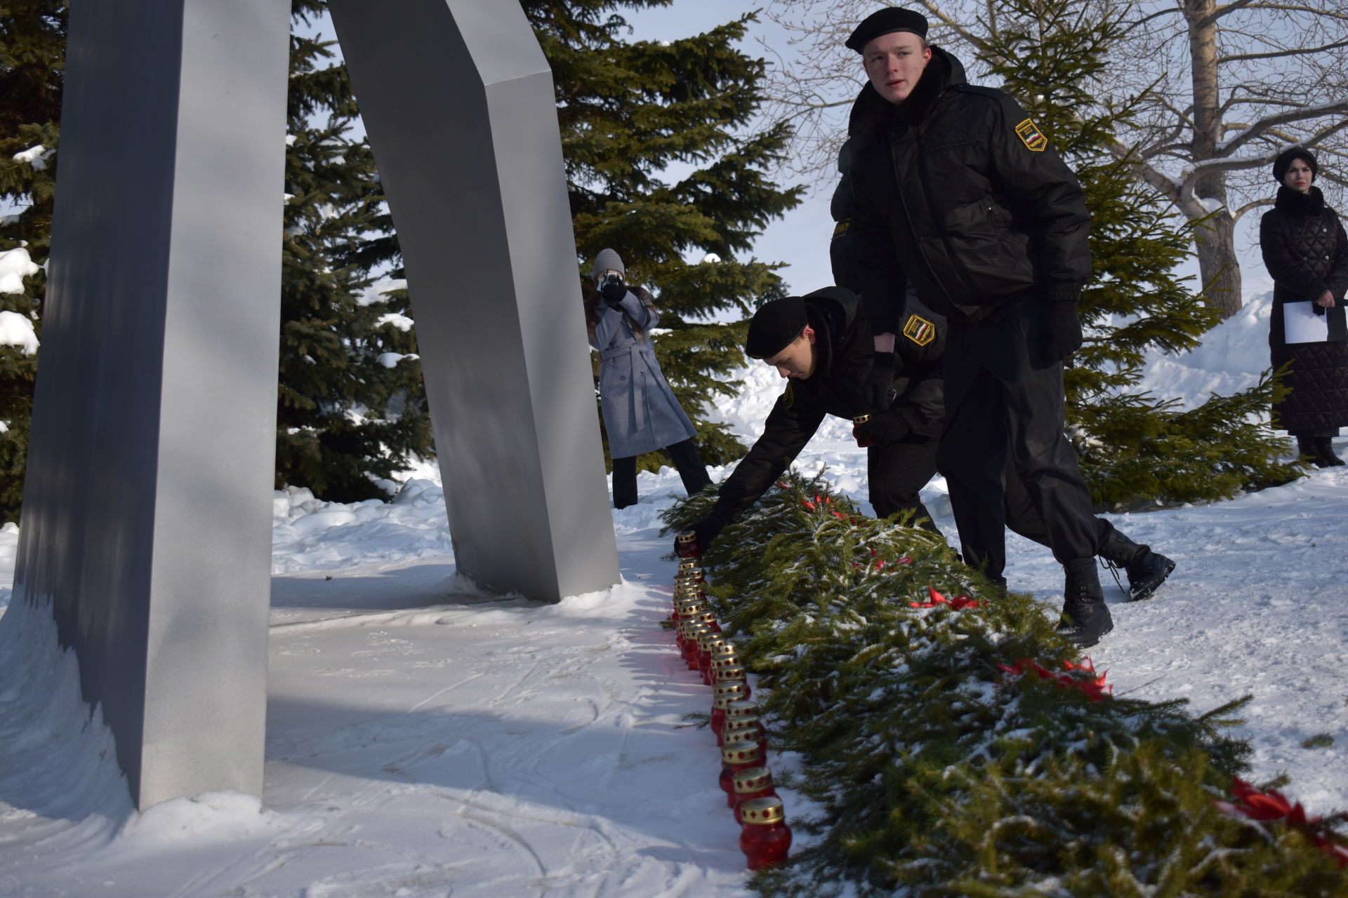
<path fill-rule="evenodd" d="M 613 458 L 654 452 L 697 435 L 655 361 L 650 331 L 659 322 L 659 312 L 632 291 L 621 306 L 624 311 L 619 312 L 608 303 L 597 304 L 599 322 L 590 341 L 600 357 L 600 407 Z M 640 338 L 632 331 L 632 322 L 642 331 Z"/>

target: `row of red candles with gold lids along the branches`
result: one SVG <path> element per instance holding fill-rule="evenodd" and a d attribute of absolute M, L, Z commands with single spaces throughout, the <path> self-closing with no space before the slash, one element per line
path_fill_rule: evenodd
<path fill-rule="evenodd" d="M 706 575 L 697 551 L 697 537 L 685 532 L 677 541 L 678 575 L 674 579 L 675 645 L 689 670 L 697 670 L 712 687 L 712 732 L 721 747 L 721 789 L 735 812 L 740 851 L 749 870 L 786 860 L 791 829 L 782 800 L 767 769 L 767 731 L 735 646 L 721 634 L 716 614 L 706 605 Z"/>

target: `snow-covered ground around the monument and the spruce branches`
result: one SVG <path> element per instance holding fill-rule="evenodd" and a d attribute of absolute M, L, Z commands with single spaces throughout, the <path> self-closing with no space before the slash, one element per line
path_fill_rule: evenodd
<path fill-rule="evenodd" d="M 1148 386 L 1197 403 L 1254 382 L 1266 327 L 1262 298 L 1204 349 L 1153 365 Z M 752 435 L 780 384 L 766 366 L 745 378 L 720 415 Z M 842 421 L 799 459 L 825 463 L 864 498 L 864 451 Z M 659 627 L 674 568 L 656 514 L 678 478 L 666 469 L 639 485 L 640 504 L 613 513 L 623 583 L 555 606 L 457 579 L 433 467 L 387 505 L 279 494 L 262 805 L 214 793 L 136 813 L 50 618 L 8 609 L 0 895 L 747 894 L 714 742 L 679 726 L 708 710 L 708 689 Z M 944 485 L 926 497 L 953 537 Z M 1348 469 L 1333 469 L 1211 506 L 1111 516 L 1178 568 L 1150 602 L 1108 588 L 1116 629 L 1092 652 L 1116 693 L 1200 710 L 1252 693 L 1255 777 L 1287 771 L 1313 812 L 1348 806 L 1345 499 Z M 0 583 L 16 539 L 0 530 Z M 1061 602 L 1049 553 L 1008 540 L 1012 586 Z M 1302 746 L 1321 734 L 1332 745 Z"/>

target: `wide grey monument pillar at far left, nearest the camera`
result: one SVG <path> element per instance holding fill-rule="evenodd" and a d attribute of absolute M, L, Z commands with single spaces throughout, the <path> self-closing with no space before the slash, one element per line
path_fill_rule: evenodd
<path fill-rule="evenodd" d="M 262 793 L 287 0 L 70 11 L 15 602 L 142 808 Z"/>

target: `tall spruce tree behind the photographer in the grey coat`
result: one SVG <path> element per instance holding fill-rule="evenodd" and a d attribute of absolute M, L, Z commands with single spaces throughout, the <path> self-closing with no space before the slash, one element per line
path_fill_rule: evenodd
<path fill-rule="evenodd" d="M 743 355 L 747 316 L 782 295 L 778 265 L 752 257 L 755 236 L 799 202 L 775 164 L 789 131 L 747 131 L 763 100 L 764 63 L 736 48 L 754 15 L 669 42 L 624 40 L 619 9 L 670 0 L 523 0 L 553 67 L 581 280 L 605 246 L 628 280 L 655 295 L 655 351 L 674 394 L 697 425 L 704 460 L 725 463 L 744 447 L 706 405 L 733 396 L 727 380 Z M 702 263 L 713 253 L 720 261 Z M 580 308 L 576 314 L 582 314 Z M 642 456 L 644 470 L 665 463 Z"/>

